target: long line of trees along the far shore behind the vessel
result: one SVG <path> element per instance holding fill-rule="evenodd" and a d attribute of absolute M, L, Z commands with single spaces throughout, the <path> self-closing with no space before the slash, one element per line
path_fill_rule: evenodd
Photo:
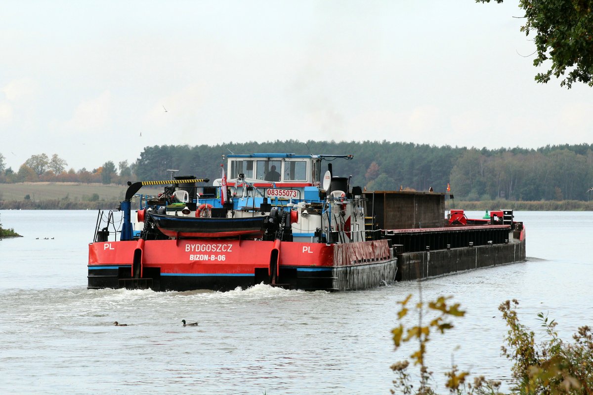
<path fill-rule="evenodd" d="M 229 153 L 289 152 L 352 154 L 354 160 L 333 162 L 333 172 L 352 176 L 350 185 L 366 190 L 445 192 L 464 200 L 515 201 L 588 200 L 593 185 L 593 144 L 563 144 L 537 149 L 431 146 L 402 142 L 316 142 L 297 140 L 224 143 L 214 146 L 145 147 L 131 165 L 108 160 L 92 171 L 66 171 L 57 155 L 33 155 L 17 172 L 5 168 L 0 154 L 0 182 L 72 181 L 125 184 L 127 181 L 168 179 L 176 175 L 220 178 Z M 323 169 L 325 170 L 325 169 Z"/>

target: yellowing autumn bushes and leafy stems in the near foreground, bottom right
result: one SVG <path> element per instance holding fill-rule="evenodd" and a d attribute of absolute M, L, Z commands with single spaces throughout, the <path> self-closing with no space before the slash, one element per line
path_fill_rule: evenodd
<path fill-rule="evenodd" d="M 398 319 L 407 315 L 409 309 L 406 307 L 412 295 L 405 300 L 398 302 L 401 309 L 398 311 Z M 396 372 L 397 380 L 393 381 L 397 393 L 428 395 L 435 394 L 429 386 L 432 379 L 432 372 L 424 364 L 426 343 L 432 330 L 444 333 L 452 329 L 451 322 L 447 322 L 448 316 L 463 316 L 465 311 L 459 309 L 459 304 L 447 305 L 446 297 L 439 297 L 436 301 L 428 303 L 428 309 L 440 311 L 440 316 L 433 319 L 429 325 L 423 326 L 422 317 L 428 311 L 425 304 L 420 300 L 416 304 L 419 314 L 419 325 L 411 328 L 404 328 L 403 325 L 392 330 L 393 342 L 396 349 L 402 342 L 417 341 L 419 349 L 410 357 L 415 365 L 420 367 L 420 385 L 417 390 L 410 383 L 410 374 L 407 372 L 409 361 L 404 360 L 391 365 L 391 370 Z M 519 323 L 517 316 L 518 301 L 505 301 L 500 304 L 499 310 L 509 327 L 505 342 L 502 347 L 502 354 L 514 361 L 511 371 L 511 393 L 525 395 L 551 395 L 551 394 L 593 394 L 593 334 L 588 326 L 579 327 L 578 332 L 573 336 L 575 343 L 565 343 L 558 338 L 554 327 L 556 322 L 549 321 L 543 313 L 538 314 L 541 325 L 546 328 L 549 339 L 539 346 L 535 344 L 534 332 Z M 448 377 L 445 386 L 450 393 L 454 394 L 490 394 L 498 395 L 500 381 L 488 381 L 483 376 L 474 378 L 473 386 L 466 383 L 469 372 L 459 371 L 457 366 L 452 366 L 451 371 L 445 372 Z M 395 390 L 391 390 L 395 394 Z"/>

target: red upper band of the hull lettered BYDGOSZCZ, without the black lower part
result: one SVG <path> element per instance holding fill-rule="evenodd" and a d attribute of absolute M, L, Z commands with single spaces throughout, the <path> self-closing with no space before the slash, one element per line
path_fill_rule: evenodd
<path fill-rule="evenodd" d="M 274 242 L 262 240 L 139 240 L 98 242 L 88 246 L 88 265 L 131 265 L 137 248 L 142 266 L 159 267 L 161 273 L 238 274 L 268 268 Z M 346 243 L 282 242 L 279 265 L 347 266 L 390 258 L 387 240 Z"/>

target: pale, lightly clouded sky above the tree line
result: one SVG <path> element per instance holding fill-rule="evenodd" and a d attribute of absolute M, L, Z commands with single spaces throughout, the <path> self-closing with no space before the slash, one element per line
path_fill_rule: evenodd
<path fill-rule="evenodd" d="M 5 1 L 0 153 L 146 146 L 592 143 L 593 90 L 537 84 L 518 0 Z M 166 111 L 165 111 L 166 110 Z"/>

